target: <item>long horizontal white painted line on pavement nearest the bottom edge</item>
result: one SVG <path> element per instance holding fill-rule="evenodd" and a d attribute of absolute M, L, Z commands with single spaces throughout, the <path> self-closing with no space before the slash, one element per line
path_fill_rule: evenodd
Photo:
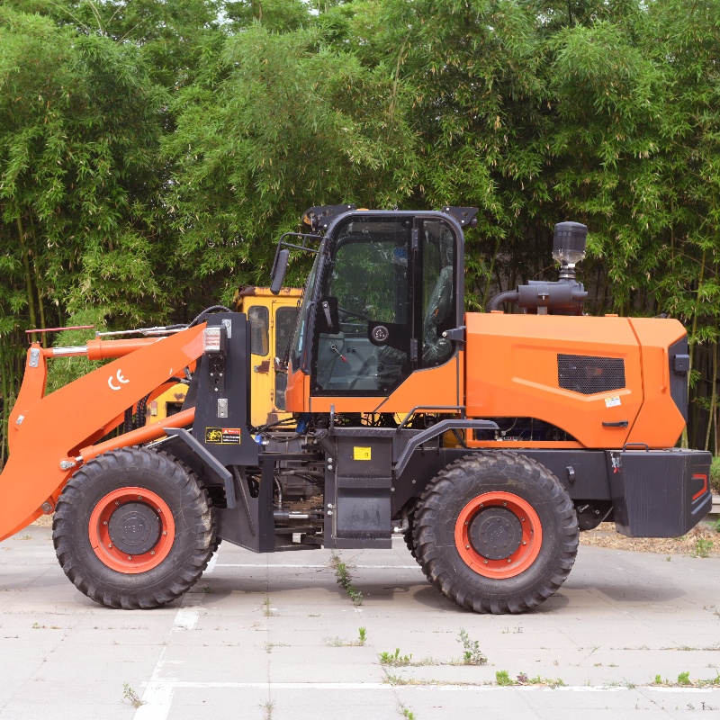
<path fill-rule="evenodd" d="M 388 682 L 193 682 L 189 680 L 158 680 L 148 682 L 148 689 L 152 686 L 154 691 L 162 689 L 261 689 L 261 690 L 442 690 L 445 692 L 510 692 L 520 690 L 523 692 L 626 692 L 630 688 L 614 686 L 562 686 L 549 688 L 542 685 L 523 685 L 513 687 L 500 687 L 498 685 L 391 685 Z M 720 688 L 654 688 L 653 686 L 636 686 L 635 689 L 662 690 L 663 692 L 704 692 L 713 690 L 720 692 Z M 147 690 L 146 690 L 147 694 Z M 143 699 L 145 696 L 143 696 Z M 136 715 L 136 720 L 138 716 Z M 144 717 L 144 716 L 143 716 Z M 150 716 L 148 716 L 150 717 Z M 152 716 L 156 720 L 159 716 Z"/>

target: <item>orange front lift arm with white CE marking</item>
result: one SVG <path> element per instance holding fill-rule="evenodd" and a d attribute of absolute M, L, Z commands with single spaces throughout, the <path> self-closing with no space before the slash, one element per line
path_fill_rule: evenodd
<path fill-rule="evenodd" d="M 162 427 L 139 428 L 93 445 L 113 419 L 202 355 L 204 327 L 202 323 L 168 338 L 95 340 L 78 348 L 31 346 L 10 416 L 10 457 L 0 474 L 0 540 L 51 512 L 77 465 L 101 448 L 148 442 L 164 435 L 163 428 L 192 423 L 193 410 L 187 410 L 158 423 Z M 117 359 L 45 395 L 48 358 L 70 355 Z"/>

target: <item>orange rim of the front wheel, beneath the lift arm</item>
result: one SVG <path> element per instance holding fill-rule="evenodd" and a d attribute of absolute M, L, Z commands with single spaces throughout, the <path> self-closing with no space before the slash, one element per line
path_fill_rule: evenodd
<path fill-rule="evenodd" d="M 103 564 L 137 574 L 166 559 L 175 541 L 175 520 L 157 493 L 128 487 L 109 492 L 95 505 L 87 531 Z"/>

